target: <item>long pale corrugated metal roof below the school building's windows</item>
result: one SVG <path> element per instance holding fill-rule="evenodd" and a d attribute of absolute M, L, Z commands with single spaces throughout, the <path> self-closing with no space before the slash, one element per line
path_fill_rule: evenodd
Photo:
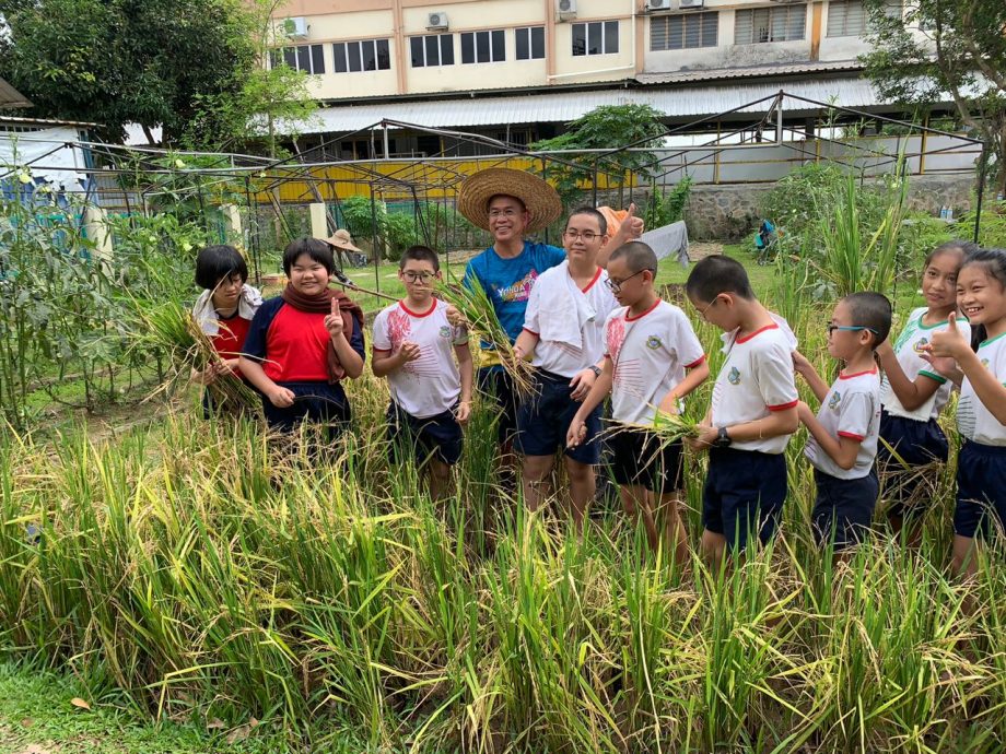
<path fill-rule="evenodd" d="M 619 89 L 597 92 L 542 92 L 507 97 L 444 99 L 441 102 L 391 102 L 372 105 L 343 105 L 319 110 L 317 122 L 302 130 L 312 133 L 346 133 L 384 119 L 426 128 L 472 128 L 541 122 L 568 122 L 601 105 L 645 104 L 668 118 L 700 118 L 725 113 L 762 97 L 786 93 L 833 103 L 842 107 L 870 107 L 882 104 L 873 86 L 863 79 L 805 79 L 785 82 L 732 83 L 729 86 L 688 86 L 676 89 Z M 796 102 L 789 109 L 812 109 Z M 742 111 L 760 113 L 764 105 Z"/>

